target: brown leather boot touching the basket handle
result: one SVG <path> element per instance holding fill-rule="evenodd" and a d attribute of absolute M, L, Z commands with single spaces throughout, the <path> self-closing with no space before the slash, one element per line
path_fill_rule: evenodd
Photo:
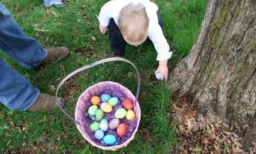
<path fill-rule="evenodd" d="M 63 106 L 64 105 L 64 98 L 62 97 L 57 97 L 58 100 L 58 105 Z M 53 111 L 53 109 L 58 108 L 56 104 L 56 97 L 53 95 L 49 94 L 43 94 L 40 93 L 39 97 L 35 101 L 34 105 L 32 105 L 28 111 L 31 112 L 37 112 L 37 111 L 42 111 L 42 112 L 48 112 L 48 111 Z"/>

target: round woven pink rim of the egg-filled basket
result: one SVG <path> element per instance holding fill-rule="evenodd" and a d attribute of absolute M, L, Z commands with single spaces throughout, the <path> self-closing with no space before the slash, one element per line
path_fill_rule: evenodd
<path fill-rule="evenodd" d="M 114 85 L 118 85 L 118 86 L 122 87 L 123 89 L 126 89 L 126 90 L 127 90 L 127 93 L 128 93 L 129 95 L 131 95 L 132 97 L 134 97 L 134 99 L 135 99 L 135 96 L 132 94 L 132 92 L 131 92 L 129 89 L 127 89 L 127 87 L 124 87 L 123 85 L 121 85 L 121 84 L 119 84 L 119 83 L 116 83 L 116 82 L 113 82 L 113 81 L 103 81 L 103 82 L 96 83 L 96 84 L 94 84 L 94 85 L 88 87 L 88 89 L 86 89 L 86 90 L 79 96 L 78 101 L 81 99 L 82 96 L 84 96 L 83 94 L 84 94 L 86 91 L 89 91 L 89 90 L 93 89 L 94 87 L 96 87 L 97 85 L 101 85 L 101 84 L 114 84 Z M 76 105 L 76 107 L 75 107 L 75 120 L 78 120 L 78 118 L 77 118 L 77 117 L 78 117 L 77 109 L 79 108 L 79 106 L 78 106 L 78 101 L 77 101 L 77 105 Z M 136 113 L 136 114 L 139 114 L 139 115 L 140 115 L 140 114 L 141 114 L 141 111 L 140 111 L 139 102 L 137 101 L 136 104 L 138 105 L 138 106 L 137 106 L 137 112 L 139 112 L 139 113 Z M 122 147 L 127 146 L 127 145 L 129 144 L 129 142 L 133 140 L 133 138 L 134 138 L 134 136 L 135 136 L 135 134 L 136 134 L 136 132 L 137 132 L 137 130 L 138 130 L 138 128 L 139 128 L 140 118 L 141 118 L 141 116 L 138 116 L 137 125 L 136 125 L 136 128 L 135 128 L 134 131 L 133 131 L 132 136 L 130 136 L 130 138 L 129 138 L 128 140 L 126 140 L 125 142 L 123 142 L 123 144 L 121 144 L 121 145 L 116 145 L 116 146 L 100 146 L 100 145 L 97 145 L 94 141 L 92 141 L 90 138 L 88 138 L 87 136 L 85 136 L 85 134 L 84 134 L 83 131 L 81 130 L 81 127 L 80 127 L 79 124 L 76 124 L 76 125 L 77 125 L 77 128 L 78 128 L 80 134 L 83 135 L 84 139 L 85 139 L 86 141 L 88 141 L 92 146 L 98 147 L 99 149 L 102 149 L 102 150 L 117 150 L 117 149 L 121 149 Z"/>

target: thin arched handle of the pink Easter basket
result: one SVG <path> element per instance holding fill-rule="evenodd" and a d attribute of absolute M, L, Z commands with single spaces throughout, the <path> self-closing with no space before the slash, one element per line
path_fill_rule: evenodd
<path fill-rule="evenodd" d="M 135 96 L 135 103 L 137 102 L 138 100 L 138 97 L 139 97 L 139 89 L 140 89 L 140 77 L 139 77 L 139 72 L 137 70 L 137 68 L 135 67 L 135 65 L 128 61 L 127 59 L 124 59 L 124 58 L 119 58 L 119 57 L 112 57 L 112 58 L 106 58 L 106 59 L 102 59 L 100 61 L 97 61 L 97 62 L 94 62 L 94 63 L 91 63 L 91 64 L 88 64 L 88 65 L 85 65 L 84 67 L 81 67 L 77 70 L 74 70 L 72 73 L 68 74 L 64 79 L 62 79 L 61 83 L 59 83 L 58 87 L 57 87 L 57 90 L 56 90 L 56 102 L 57 102 L 57 96 L 58 96 L 58 91 L 59 91 L 59 88 L 62 86 L 62 84 L 64 84 L 65 81 L 67 81 L 70 77 L 72 77 L 73 75 L 81 72 L 82 70 L 85 70 L 85 69 L 88 69 L 88 68 L 91 68 L 91 67 L 94 67 L 96 65 L 99 65 L 99 64 L 102 64 L 102 63 L 106 63 L 106 62 L 112 62 L 112 61 L 123 61 L 123 62 L 127 62 L 129 64 L 131 64 L 135 70 L 136 70 L 136 73 L 137 73 L 137 93 L 136 93 L 136 96 Z M 59 105 L 59 103 L 57 103 L 57 106 L 59 107 L 59 109 L 61 109 L 61 111 L 68 117 L 70 118 L 71 120 L 73 120 L 75 123 L 79 124 L 80 123 L 75 120 L 73 117 L 71 117 L 66 111 L 64 111 L 64 109 L 62 108 L 62 106 Z"/>

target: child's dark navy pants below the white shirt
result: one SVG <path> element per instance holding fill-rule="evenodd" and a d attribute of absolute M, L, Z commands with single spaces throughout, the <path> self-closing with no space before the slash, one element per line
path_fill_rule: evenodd
<path fill-rule="evenodd" d="M 162 19 L 160 18 L 159 13 L 157 12 L 158 24 L 163 27 Z M 110 23 L 108 24 L 108 33 L 110 35 L 110 47 L 113 51 L 113 54 L 123 54 L 124 49 L 126 48 L 127 42 L 124 40 L 121 31 L 118 29 L 117 24 L 114 19 L 110 19 Z M 146 39 L 151 42 L 149 37 Z M 152 43 L 152 42 L 151 42 Z"/>

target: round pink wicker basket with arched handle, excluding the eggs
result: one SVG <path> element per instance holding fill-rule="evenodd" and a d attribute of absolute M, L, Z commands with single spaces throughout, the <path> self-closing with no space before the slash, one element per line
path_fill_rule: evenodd
<path fill-rule="evenodd" d="M 126 87 L 122 86 L 121 84 L 118 84 L 118 83 L 115 83 L 112 81 L 105 81 L 105 82 L 97 83 L 95 85 L 90 86 L 88 89 L 86 89 L 80 95 L 80 97 L 78 98 L 78 101 L 77 101 L 77 106 L 75 108 L 75 119 L 72 118 L 67 112 L 65 112 L 61 106 L 58 106 L 61 109 L 61 111 L 64 114 L 66 114 L 67 117 L 72 119 L 77 124 L 78 130 L 80 131 L 81 135 L 83 135 L 85 140 L 90 142 L 90 144 L 92 146 L 98 147 L 102 150 L 117 150 L 117 149 L 121 149 L 124 146 L 127 146 L 129 144 L 129 142 L 133 140 L 134 135 L 138 130 L 140 117 L 141 117 L 140 116 L 140 107 L 139 107 L 139 103 L 137 101 L 138 95 L 139 95 L 140 79 L 139 79 L 138 70 L 135 67 L 135 65 L 132 62 L 130 62 L 124 58 L 102 59 L 101 61 L 97 61 L 95 63 L 86 65 L 80 69 L 75 70 L 74 72 L 70 73 L 69 75 L 67 75 L 66 78 L 64 78 L 61 81 L 61 83 L 59 83 L 59 85 L 57 87 L 57 91 L 56 91 L 56 96 L 57 96 L 58 90 L 61 87 L 61 85 L 63 85 L 63 83 L 66 80 L 68 80 L 71 76 L 73 76 L 74 74 L 77 74 L 77 73 L 81 72 L 82 70 L 94 67 L 95 65 L 105 63 L 105 62 L 111 62 L 111 61 L 123 61 L 123 62 L 127 62 L 127 63 L 133 65 L 133 67 L 135 68 L 135 70 L 137 72 L 137 79 L 138 79 L 138 87 L 137 87 L 136 96 L 134 96 L 132 94 L 132 92 L 130 92 L 130 90 L 128 90 Z M 132 129 L 132 131 L 128 131 L 129 133 L 126 134 L 126 135 L 128 135 L 128 136 L 126 136 L 127 140 L 121 140 L 120 141 L 121 144 L 118 143 L 118 145 L 115 145 L 115 146 L 103 146 L 102 144 L 99 143 L 99 141 L 94 139 L 94 135 L 89 128 L 90 127 L 90 119 L 88 119 L 88 117 L 85 116 L 85 113 L 88 111 L 88 108 L 91 106 L 90 98 L 92 96 L 100 96 L 101 94 L 110 94 L 112 97 L 118 97 L 119 100 L 121 100 L 121 101 L 123 101 L 125 98 L 129 98 L 130 100 L 133 101 L 133 111 L 135 112 L 135 115 L 136 115 L 133 122 L 135 124 L 133 124 L 133 126 L 134 126 L 133 128 L 130 128 L 130 129 Z M 57 103 L 57 105 L 58 105 L 58 103 Z M 113 108 L 112 112 L 115 112 L 114 108 Z M 128 125 L 128 129 L 129 129 L 129 125 Z"/>

